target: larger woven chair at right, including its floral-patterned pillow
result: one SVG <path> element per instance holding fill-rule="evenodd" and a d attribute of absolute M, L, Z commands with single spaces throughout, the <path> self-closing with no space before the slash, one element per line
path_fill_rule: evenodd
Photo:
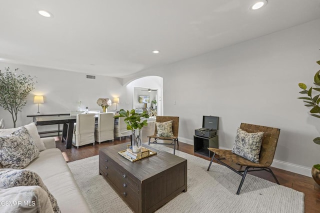
<path fill-rule="evenodd" d="M 215 159 L 220 164 L 242 176 L 236 194 L 240 193 L 242 183 L 248 171 L 268 171 L 276 183 L 279 184 L 279 181 L 269 167 L 273 161 L 279 134 L 279 128 L 241 123 L 237 129 L 232 150 L 208 148 L 213 152 L 213 156 L 207 170 L 210 169 L 212 161 Z M 239 167 L 230 166 L 230 163 L 234 163 Z"/>

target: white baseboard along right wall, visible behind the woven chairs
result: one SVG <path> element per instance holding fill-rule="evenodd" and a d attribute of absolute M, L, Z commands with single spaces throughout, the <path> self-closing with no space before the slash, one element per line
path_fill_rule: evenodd
<path fill-rule="evenodd" d="M 188 139 L 188 138 L 184 138 L 184 137 L 179 137 L 179 140 L 183 141 L 184 143 L 193 145 L 193 140 Z M 226 148 L 226 147 L 221 147 L 219 146 L 219 148 L 222 149 L 230 149 L 230 148 Z M 285 161 L 281 161 L 281 160 L 277 160 L 277 159 L 273 159 L 273 162 L 271 164 L 272 167 L 275 168 L 280 168 L 286 171 L 291 171 L 297 174 L 302 174 L 308 177 L 312 177 L 311 176 L 311 168 L 306 167 L 306 166 L 302 166 L 302 165 L 298 165 L 298 164 L 293 164 L 290 162 L 285 162 Z"/>

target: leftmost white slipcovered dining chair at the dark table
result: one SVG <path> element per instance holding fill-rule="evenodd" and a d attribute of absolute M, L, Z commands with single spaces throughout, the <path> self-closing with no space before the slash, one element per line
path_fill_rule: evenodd
<path fill-rule="evenodd" d="M 77 114 L 76 126 L 73 132 L 72 145 L 79 147 L 93 143 L 94 145 L 95 114 Z"/>

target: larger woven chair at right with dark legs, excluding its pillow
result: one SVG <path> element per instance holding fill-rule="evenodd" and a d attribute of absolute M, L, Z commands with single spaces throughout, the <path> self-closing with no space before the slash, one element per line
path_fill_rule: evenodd
<path fill-rule="evenodd" d="M 231 150 L 208 147 L 208 149 L 213 152 L 213 156 L 211 158 L 211 161 L 210 161 L 210 164 L 207 168 L 207 171 L 210 169 L 210 166 L 212 164 L 213 159 L 215 159 L 220 164 L 228 167 L 229 169 L 231 169 L 235 173 L 242 176 L 242 179 L 240 181 L 240 184 L 238 186 L 236 194 L 240 193 L 245 175 L 248 171 L 259 171 L 259 170 L 268 171 L 272 174 L 276 183 L 280 184 L 279 181 L 277 180 L 276 176 L 272 172 L 271 168 L 269 168 L 269 166 L 271 165 L 271 163 L 273 161 L 276 144 L 277 144 L 279 134 L 280 134 L 280 129 L 273 128 L 273 127 L 267 127 L 267 126 L 261 126 L 261 125 L 248 124 L 248 123 L 241 123 L 240 129 L 242 129 L 246 132 L 249 132 L 249 133 L 263 132 L 261 150 L 260 150 L 260 154 L 259 154 L 259 162 L 255 163 L 250 160 L 247 160 L 237 154 L 232 153 Z M 215 154 L 217 154 L 219 157 L 216 157 Z M 228 160 L 229 162 L 235 163 L 236 165 L 239 165 L 240 167 L 239 167 L 239 169 L 233 168 L 229 164 L 223 162 L 222 160 Z M 242 167 L 244 167 L 244 170 Z"/>

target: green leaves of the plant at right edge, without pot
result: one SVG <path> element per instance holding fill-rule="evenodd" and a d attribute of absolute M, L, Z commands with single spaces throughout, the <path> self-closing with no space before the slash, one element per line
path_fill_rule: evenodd
<path fill-rule="evenodd" d="M 317 64 L 320 65 L 320 60 L 316 61 Z M 314 75 L 314 82 L 313 82 L 315 85 L 317 86 L 320 86 L 320 70 L 317 71 Z M 305 103 L 304 105 L 307 106 L 307 107 L 312 107 L 310 109 L 310 115 L 311 116 L 314 116 L 314 117 L 317 117 L 317 118 L 320 118 L 320 106 L 319 106 L 319 103 L 320 103 L 320 94 L 316 94 L 312 97 L 312 91 L 315 90 L 315 91 L 318 91 L 320 92 L 320 88 L 317 88 L 317 87 L 310 87 L 310 88 L 307 88 L 306 84 L 304 83 L 299 83 L 298 84 L 299 87 L 301 89 L 303 89 L 302 91 L 300 91 L 299 93 L 301 94 L 307 94 L 308 97 L 298 97 L 299 99 L 303 99 L 303 102 Z M 316 144 L 320 144 L 320 137 L 316 137 L 313 139 L 313 142 L 316 143 Z"/>

